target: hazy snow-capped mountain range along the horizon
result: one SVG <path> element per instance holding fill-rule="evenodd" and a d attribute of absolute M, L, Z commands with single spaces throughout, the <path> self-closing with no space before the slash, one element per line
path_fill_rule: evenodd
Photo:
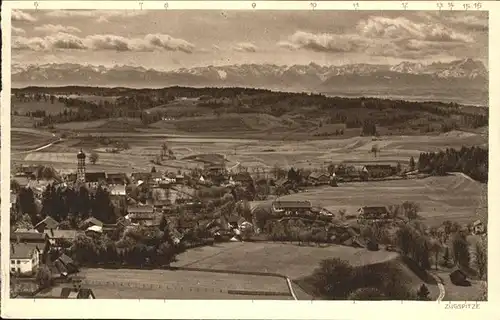
<path fill-rule="evenodd" d="M 13 65 L 13 87 L 25 86 L 245 86 L 328 92 L 353 87 L 462 87 L 487 90 L 488 71 L 473 59 L 397 65 L 280 66 L 242 64 L 159 71 L 144 67 L 83 64 Z"/>

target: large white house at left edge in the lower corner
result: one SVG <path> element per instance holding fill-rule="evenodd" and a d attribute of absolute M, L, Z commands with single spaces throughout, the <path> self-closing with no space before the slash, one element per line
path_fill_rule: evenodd
<path fill-rule="evenodd" d="M 40 265 L 40 249 L 33 243 L 13 243 L 10 250 L 10 271 L 29 274 Z"/>

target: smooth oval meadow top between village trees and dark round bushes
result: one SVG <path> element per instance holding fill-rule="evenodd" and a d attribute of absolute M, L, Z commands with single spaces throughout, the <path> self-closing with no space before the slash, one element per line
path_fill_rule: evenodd
<path fill-rule="evenodd" d="M 348 260 L 352 265 L 370 265 L 395 259 L 397 253 L 367 251 L 345 246 L 307 247 L 268 242 L 221 243 L 188 250 L 174 266 L 271 272 L 299 279 L 310 275 L 319 262 L 328 258 Z"/>

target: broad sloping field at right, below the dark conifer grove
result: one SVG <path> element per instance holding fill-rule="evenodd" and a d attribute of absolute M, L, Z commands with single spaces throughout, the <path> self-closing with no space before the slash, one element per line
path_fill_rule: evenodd
<path fill-rule="evenodd" d="M 401 204 L 413 201 L 420 205 L 419 215 L 428 225 L 445 220 L 469 223 L 487 221 L 487 185 L 457 174 L 446 177 L 373 181 L 340 184 L 338 188 L 311 188 L 307 192 L 281 197 L 287 200 L 309 200 L 314 206 L 332 212 L 345 209 L 356 214 L 362 206 Z M 270 205 L 265 202 L 264 205 Z M 254 204 L 254 206 L 257 203 Z"/>

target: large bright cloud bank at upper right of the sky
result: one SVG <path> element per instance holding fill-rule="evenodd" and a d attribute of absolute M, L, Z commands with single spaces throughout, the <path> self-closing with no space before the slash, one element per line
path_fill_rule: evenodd
<path fill-rule="evenodd" d="M 357 26 L 368 38 L 416 39 L 421 41 L 473 42 L 470 35 L 440 23 L 418 23 L 407 18 L 370 17 Z"/>

